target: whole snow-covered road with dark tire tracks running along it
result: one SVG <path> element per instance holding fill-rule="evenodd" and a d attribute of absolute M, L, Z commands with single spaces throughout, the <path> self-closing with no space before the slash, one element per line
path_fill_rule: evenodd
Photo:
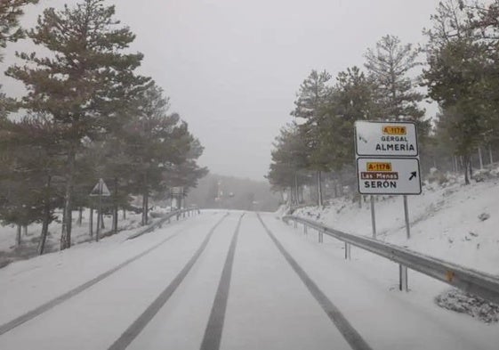
<path fill-rule="evenodd" d="M 0 349 L 497 349 L 496 325 L 425 305 L 270 214 L 205 212 L 0 270 Z M 380 269 L 396 269 L 380 263 Z M 383 270 L 384 269 L 384 270 Z"/>

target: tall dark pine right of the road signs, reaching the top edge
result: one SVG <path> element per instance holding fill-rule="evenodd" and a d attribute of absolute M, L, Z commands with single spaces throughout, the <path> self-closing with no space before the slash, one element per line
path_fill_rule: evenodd
<path fill-rule="evenodd" d="M 428 69 L 423 78 L 431 98 L 439 102 L 437 132 L 464 159 L 465 183 L 469 181 L 471 153 L 484 138 L 491 104 L 490 80 L 485 74 L 486 46 L 473 31 L 464 4 L 454 0 L 440 3 L 426 30 Z"/>

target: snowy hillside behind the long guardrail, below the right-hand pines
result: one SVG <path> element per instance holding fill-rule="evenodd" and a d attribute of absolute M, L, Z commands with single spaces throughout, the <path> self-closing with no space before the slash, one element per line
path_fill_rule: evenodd
<path fill-rule="evenodd" d="M 499 168 L 463 185 L 426 182 L 423 194 L 410 196 L 411 239 L 406 239 L 402 196 L 378 196 L 375 203 L 378 240 L 388 241 L 479 271 L 499 274 Z M 359 208 L 351 199 L 335 199 L 326 208 L 301 208 L 294 213 L 334 229 L 372 235 L 369 201 Z"/>

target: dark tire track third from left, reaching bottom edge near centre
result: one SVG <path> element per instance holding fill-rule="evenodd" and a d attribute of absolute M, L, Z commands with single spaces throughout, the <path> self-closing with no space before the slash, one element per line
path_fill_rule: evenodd
<path fill-rule="evenodd" d="M 215 299 L 213 301 L 212 312 L 210 313 L 210 318 L 205 329 L 205 336 L 201 343 L 201 350 L 220 349 L 221 331 L 223 330 L 225 311 L 227 309 L 227 300 L 229 299 L 230 277 L 232 275 L 232 265 L 234 264 L 237 236 L 239 234 L 239 228 L 241 227 L 243 216 L 245 216 L 245 214 L 239 217 L 236 231 L 234 232 L 234 236 L 230 241 L 229 252 L 227 253 L 227 258 L 225 260 L 225 264 L 223 265 L 220 282 L 215 295 Z"/>

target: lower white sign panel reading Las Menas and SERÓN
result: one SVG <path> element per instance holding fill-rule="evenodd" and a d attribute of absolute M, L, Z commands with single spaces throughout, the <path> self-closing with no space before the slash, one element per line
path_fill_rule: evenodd
<path fill-rule="evenodd" d="M 419 159 L 358 158 L 361 194 L 421 194 Z"/>

